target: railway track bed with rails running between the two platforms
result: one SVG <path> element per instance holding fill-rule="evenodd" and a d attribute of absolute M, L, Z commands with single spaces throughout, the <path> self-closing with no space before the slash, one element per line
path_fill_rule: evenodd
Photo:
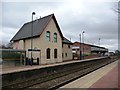
<path fill-rule="evenodd" d="M 47 76 L 41 76 L 32 79 L 26 79 L 21 82 L 6 84 L 3 85 L 2 88 L 45 88 L 53 90 L 116 60 L 117 59 L 114 58 L 106 58 L 101 60 L 82 62 L 81 64 L 78 64 L 74 67 L 71 66 L 70 68 L 64 68 L 64 70 L 61 71 L 54 71 L 54 73 L 48 74 Z"/>

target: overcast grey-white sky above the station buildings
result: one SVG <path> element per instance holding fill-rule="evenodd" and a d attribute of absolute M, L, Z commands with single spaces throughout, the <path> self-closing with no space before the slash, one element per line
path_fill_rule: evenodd
<path fill-rule="evenodd" d="M 99 45 L 101 38 L 101 46 L 109 51 L 118 49 L 118 15 L 113 10 L 118 0 L 16 1 L 4 0 L 0 5 L 3 44 L 8 43 L 24 23 L 31 21 L 34 11 L 34 19 L 54 13 L 63 35 L 72 42 L 79 41 L 79 34 L 85 31 L 85 43 Z"/>

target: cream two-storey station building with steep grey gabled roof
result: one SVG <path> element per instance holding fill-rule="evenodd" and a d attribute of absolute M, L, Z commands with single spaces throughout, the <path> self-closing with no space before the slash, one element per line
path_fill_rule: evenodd
<path fill-rule="evenodd" d="M 54 14 L 25 23 L 11 41 L 13 49 L 25 50 L 26 57 L 38 58 L 39 64 L 72 59 L 72 42 L 63 36 Z"/>

